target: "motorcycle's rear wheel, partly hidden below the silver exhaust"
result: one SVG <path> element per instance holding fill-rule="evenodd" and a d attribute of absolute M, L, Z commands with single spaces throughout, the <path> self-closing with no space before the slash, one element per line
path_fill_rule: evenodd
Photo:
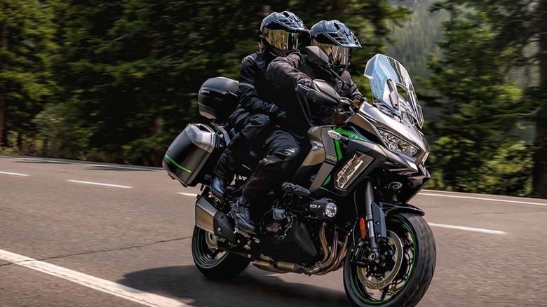
<path fill-rule="evenodd" d="M 215 280 L 234 277 L 249 265 L 250 261 L 237 254 L 220 250 L 214 233 L 194 226 L 192 257 L 203 275 Z"/>

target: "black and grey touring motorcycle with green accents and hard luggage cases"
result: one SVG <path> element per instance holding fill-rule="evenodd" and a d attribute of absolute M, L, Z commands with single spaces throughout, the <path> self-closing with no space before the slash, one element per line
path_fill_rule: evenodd
<path fill-rule="evenodd" d="M 309 59 L 326 55 L 308 47 Z M 405 67 L 385 55 L 367 62 L 374 105 L 359 109 L 324 81 L 297 86 L 306 101 L 346 114 L 341 125 L 312 126 L 311 150 L 292 182 L 283 184 L 259 221 L 257 236 L 234 228 L 227 213 L 259 155 L 249 153 L 228 196 L 209 193 L 210 176 L 233 132 L 220 124 L 237 104 L 238 83 L 217 77 L 203 83 L 200 114 L 210 125 L 189 123 L 170 144 L 163 168 L 184 186 L 202 184 L 196 201 L 192 255 L 208 278 L 229 278 L 248 264 L 277 273 L 323 275 L 342 268 L 353 306 L 415 306 L 435 271 L 436 249 L 424 212 L 407 202 L 430 179 L 428 144 L 420 132 L 421 107 Z M 224 116 L 224 117 L 223 117 Z"/>

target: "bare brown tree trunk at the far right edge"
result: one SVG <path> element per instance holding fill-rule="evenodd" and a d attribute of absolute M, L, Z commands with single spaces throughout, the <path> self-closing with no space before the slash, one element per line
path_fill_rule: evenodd
<path fill-rule="evenodd" d="M 539 19 L 539 86 L 547 91 L 547 0 L 541 0 Z M 536 116 L 536 150 L 534 152 L 534 189 L 532 195 L 547 198 L 547 103 L 543 102 Z"/>

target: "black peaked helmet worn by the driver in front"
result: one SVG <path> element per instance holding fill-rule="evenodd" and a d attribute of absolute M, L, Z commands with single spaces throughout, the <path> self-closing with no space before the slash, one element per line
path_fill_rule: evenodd
<path fill-rule="evenodd" d="M 351 48 L 361 48 L 359 40 L 339 20 L 321 20 L 310 29 L 311 46 L 318 46 L 329 57 L 330 64 L 339 70 L 349 66 Z"/>

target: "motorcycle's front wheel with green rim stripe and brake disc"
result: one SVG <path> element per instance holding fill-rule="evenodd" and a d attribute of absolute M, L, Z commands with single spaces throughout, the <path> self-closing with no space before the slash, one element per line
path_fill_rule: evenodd
<path fill-rule="evenodd" d="M 379 240 L 379 263 L 362 249 L 344 263 L 344 289 L 353 306 L 416 306 L 435 271 L 435 239 L 417 214 L 386 217 L 388 238 Z M 351 247 L 355 249 L 356 247 Z"/>

